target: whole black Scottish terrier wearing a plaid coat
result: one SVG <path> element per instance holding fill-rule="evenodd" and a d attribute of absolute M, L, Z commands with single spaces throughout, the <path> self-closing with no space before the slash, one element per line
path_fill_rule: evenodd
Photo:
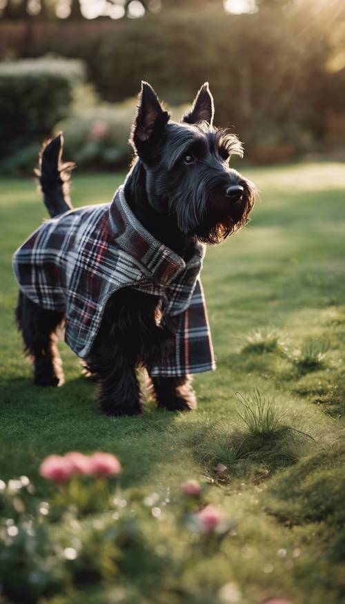
<path fill-rule="evenodd" d="M 148 369 L 159 407 L 196 407 L 189 373 L 214 368 L 199 271 L 204 245 L 244 226 L 254 187 L 230 169 L 242 144 L 213 127 L 204 84 L 181 123 L 143 83 L 130 143 L 135 162 L 112 204 L 72 210 L 62 137 L 43 146 L 38 172 L 48 211 L 14 255 L 16 309 L 34 383 L 62 383 L 55 330 L 99 382 L 109 415 L 141 412 L 136 368 Z"/>

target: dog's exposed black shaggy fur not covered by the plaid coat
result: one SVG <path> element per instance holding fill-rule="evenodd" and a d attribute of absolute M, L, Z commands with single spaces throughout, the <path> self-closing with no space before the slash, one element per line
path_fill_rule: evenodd
<path fill-rule="evenodd" d="M 180 123 L 170 120 L 152 88 L 143 83 L 130 136 L 135 161 L 126 179 L 126 199 L 155 239 L 188 260 L 195 241 L 217 244 L 239 230 L 253 207 L 251 184 L 228 165 L 242 144 L 213 126 L 208 84 L 199 90 Z M 61 162 L 62 135 L 43 146 L 37 171 L 52 217 L 70 209 L 68 181 L 73 164 Z M 167 330 L 157 322 L 159 298 L 124 288 L 113 294 L 86 358 L 98 382 L 101 410 L 109 415 L 141 412 L 136 368 L 148 368 L 161 353 Z M 48 311 L 19 294 L 17 322 L 34 362 L 34 383 L 57 386 L 63 380 L 55 330 L 63 313 Z M 170 334 L 171 335 L 171 334 Z M 152 378 L 159 407 L 184 411 L 197 402 L 190 376 Z"/>

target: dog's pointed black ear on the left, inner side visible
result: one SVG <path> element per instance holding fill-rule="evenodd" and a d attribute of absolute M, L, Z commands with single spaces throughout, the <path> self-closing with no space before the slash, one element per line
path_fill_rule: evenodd
<path fill-rule="evenodd" d="M 130 143 L 140 151 L 159 137 L 170 115 L 159 103 L 155 90 L 146 81 L 141 82 L 137 115 L 132 126 Z"/>

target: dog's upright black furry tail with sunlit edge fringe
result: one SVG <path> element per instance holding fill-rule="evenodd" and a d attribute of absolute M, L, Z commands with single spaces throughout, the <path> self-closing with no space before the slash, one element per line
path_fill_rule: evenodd
<path fill-rule="evenodd" d="M 39 153 L 35 174 L 43 193 L 43 201 L 53 218 L 72 209 L 70 201 L 70 173 L 75 164 L 61 161 L 63 134 L 44 142 Z"/>

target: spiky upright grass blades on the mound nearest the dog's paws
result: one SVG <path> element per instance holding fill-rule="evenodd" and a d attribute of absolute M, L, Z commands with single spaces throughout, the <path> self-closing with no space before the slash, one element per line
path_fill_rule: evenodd
<path fill-rule="evenodd" d="M 274 400 L 264 397 L 259 389 L 256 388 L 251 397 L 241 392 L 237 392 L 235 396 L 243 407 L 243 414 L 239 411 L 237 413 L 254 436 L 268 436 L 284 428 L 282 420 L 286 411 L 278 409 Z"/>

